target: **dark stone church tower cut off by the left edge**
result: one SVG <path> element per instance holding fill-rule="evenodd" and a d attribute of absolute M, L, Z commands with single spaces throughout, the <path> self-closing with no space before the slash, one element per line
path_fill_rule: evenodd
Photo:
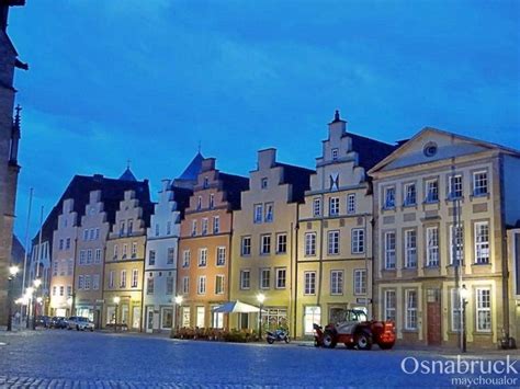
<path fill-rule="evenodd" d="M 13 240 L 14 201 L 20 167 L 20 107 L 13 121 L 14 68 L 27 69 L 7 34 L 8 12 L 25 0 L 0 0 L 0 327 L 8 322 L 8 275 Z"/>

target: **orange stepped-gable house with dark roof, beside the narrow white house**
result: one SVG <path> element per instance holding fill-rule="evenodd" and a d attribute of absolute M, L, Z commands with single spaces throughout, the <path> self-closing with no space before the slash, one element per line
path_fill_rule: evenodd
<path fill-rule="evenodd" d="M 240 193 L 248 187 L 248 179 L 217 170 L 214 158 L 202 161 L 181 222 L 178 293 L 183 296 L 182 327 L 227 324 L 224 314 L 212 313 L 212 308 L 229 299 L 233 210 L 239 208 Z"/>

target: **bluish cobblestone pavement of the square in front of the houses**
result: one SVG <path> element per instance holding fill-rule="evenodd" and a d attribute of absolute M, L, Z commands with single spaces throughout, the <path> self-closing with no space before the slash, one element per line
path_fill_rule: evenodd
<path fill-rule="evenodd" d="M 450 387 L 453 377 L 481 376 L 406 374 L 402 363 L 407 357 L 408 370 L 415 364 L 410 357 L 427 364 L 456 361 L 454 355 L 377 347 L 358 352 L 65 330 L 0 332 L 0 388 Z M 518 353 L 511 355 L 517 358 Z M 485 359 L 506 361 L 506 353 Z M 520 361 L 515 366 L 520 371 Z M 520 385 L 515 371 L 483 377 L 495 379 L 481 381 L 486 387 L 498 387 L 500 377 L 509 379 L 500 387 Z"/>

